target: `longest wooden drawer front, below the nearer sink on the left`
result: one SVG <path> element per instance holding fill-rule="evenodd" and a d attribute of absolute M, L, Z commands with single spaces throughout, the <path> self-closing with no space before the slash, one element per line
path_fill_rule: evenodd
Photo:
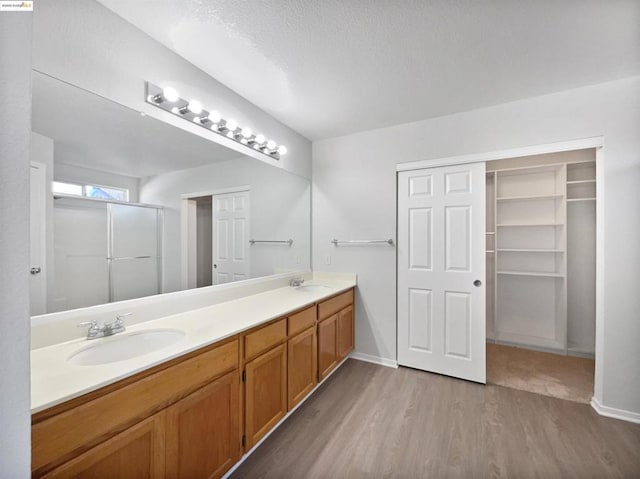
<path fill-rule="evenodd" d="M 34 476 L 237 367 L 236 339 L 33 424 Z"/>

